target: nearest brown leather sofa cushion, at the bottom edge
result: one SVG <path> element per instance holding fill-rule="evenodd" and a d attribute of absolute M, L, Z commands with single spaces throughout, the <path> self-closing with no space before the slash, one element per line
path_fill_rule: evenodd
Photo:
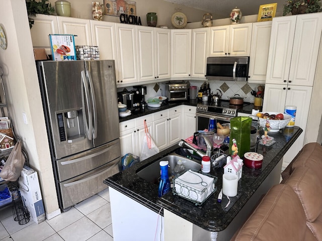
<path fill-rule="evenodd" d="M 235 235 L 237 240 L 316 240 L 306 226 L 302 204 L 292 188 L 273 186 Z"/>

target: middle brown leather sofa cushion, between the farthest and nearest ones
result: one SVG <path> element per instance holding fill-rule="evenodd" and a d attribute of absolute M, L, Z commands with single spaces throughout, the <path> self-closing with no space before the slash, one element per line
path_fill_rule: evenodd
<path fill-rule="evenodd" d="M 319 176 L 312 168 L 297 167 L 285 182 L 297 194 L 309 222 L 314 222 L 322 212 L 322 185 Z"/>

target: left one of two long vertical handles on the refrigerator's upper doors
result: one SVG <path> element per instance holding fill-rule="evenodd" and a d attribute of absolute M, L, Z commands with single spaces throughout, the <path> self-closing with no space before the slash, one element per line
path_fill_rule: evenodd
<path fill-rule="evenodd" d="M 89 116 L 89 120 L 87 122 L 86 114 L 84 115 L 85 131 L 87 133 L 87 138 L 89 140 L 92 140 L 92 129 L 93 129 L 92 105 L 90 104 L 90 93 L 89 93 L 90 90 L 89 90 L 89 85 L 87 83 L 85 70 L 82 70 L 81 75 L 82 75 L 82 82 L 83 82 L 83 87 L 86 95 L 86 104 L 87 104 L 88 116 Z M 82 90 L 82 100 L 83 100 L 83 106 L 85 107 L 84 91 Z"/>

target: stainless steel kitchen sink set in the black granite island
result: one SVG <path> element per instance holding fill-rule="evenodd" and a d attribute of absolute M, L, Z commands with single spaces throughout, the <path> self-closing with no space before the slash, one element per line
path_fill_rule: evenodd
<path fill-rule="evenodd" d="M 139 177 L 143 178 L 146 181 L 149 181 L 149 182 L 157 185 L 158 181 L 160 179 L 159 162 L 160 161 L 169 161 L 168 173 L 169 173 L 169 177 L 171 177 L 171 173 L 172 173 L 173 169 L 175 168 L 175 166 L 177 165 L 177 162 L 179 160 L 183 161 L 183 164 L 185 165 L 186 170 L 189 170 L 189 169 L 194 169 L 194 170 L 198 170 L 198 171 L 201 170 L 201 164 L 197 163 L 196 161 L 193 161 L 191 159 L 184 158 L 181 156 L 169 155 L 169 156 L 163 157 L 163 158 L 157 160 L 156 162 L 151 163 L 147 167 L 139 170 L 136 173 L 136 175 L 138 175 Z"/>

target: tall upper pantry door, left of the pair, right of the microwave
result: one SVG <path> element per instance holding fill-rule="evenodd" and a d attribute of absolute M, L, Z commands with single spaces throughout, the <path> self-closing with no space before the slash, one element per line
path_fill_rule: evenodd
<path fill-rule="evenodd" d="M 266 83 L 286 84 L 288 80 L 296 16 L 273 18 Z"/>

